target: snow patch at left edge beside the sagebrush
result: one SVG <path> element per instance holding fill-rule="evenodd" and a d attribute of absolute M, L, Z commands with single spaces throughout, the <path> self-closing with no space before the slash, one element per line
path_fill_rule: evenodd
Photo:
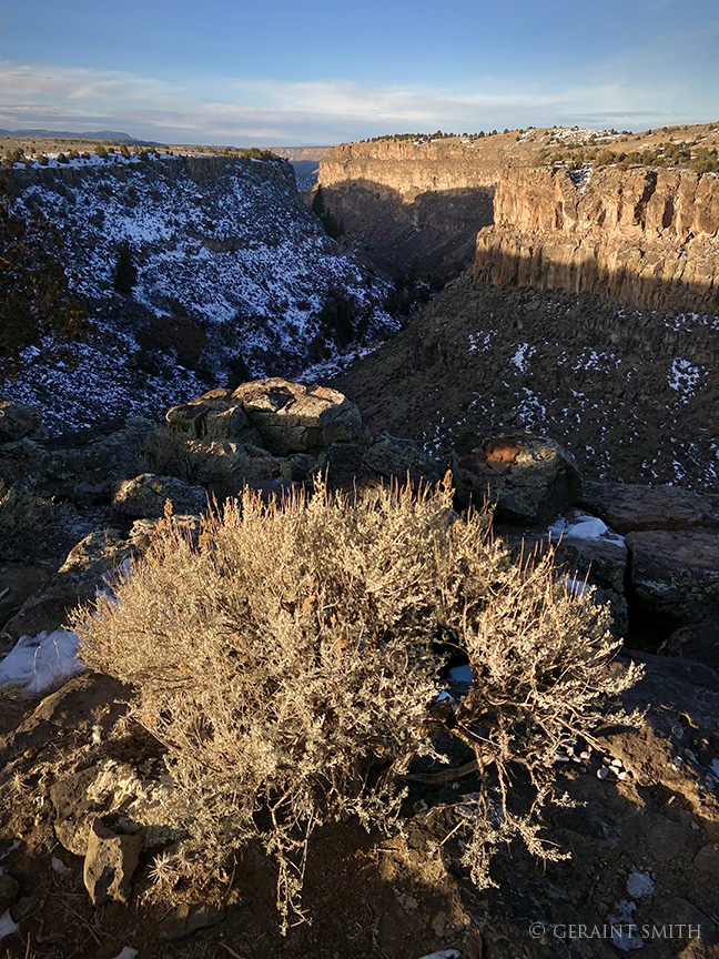
<path fill-rule="evenodd" d="M 77 634 L 65 629 L 21 636 L 0 663 L 0 686 L 23 686 L 27 695 L 34 695 L 81 672 L 78 642 Z"/>

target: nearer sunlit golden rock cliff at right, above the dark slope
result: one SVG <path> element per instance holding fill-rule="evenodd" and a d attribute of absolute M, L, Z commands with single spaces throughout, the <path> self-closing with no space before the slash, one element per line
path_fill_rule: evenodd
<path fill-rule="evenodd" d="M 659 310 L 719 310 L 719 179 L 608 166 L 509 169 L 474 276 Z"/>

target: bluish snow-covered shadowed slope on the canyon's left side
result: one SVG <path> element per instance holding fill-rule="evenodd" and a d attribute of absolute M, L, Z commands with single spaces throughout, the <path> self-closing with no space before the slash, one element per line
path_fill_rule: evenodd
<path fill-rule="evenodd" d="M 243 364 L 297 377 L 395 326 L 387 281 L 326 236 L 284 161 L 51 160 L 11 171 L 8 192 L 12 212 L 59 229 L 70 286 L 89 307 L 80 342 L 28 349 L 3 387 L 42 405 L 55 428 L 159 415 Z M 124 242 L 131 296 L 114 283 Z"/>

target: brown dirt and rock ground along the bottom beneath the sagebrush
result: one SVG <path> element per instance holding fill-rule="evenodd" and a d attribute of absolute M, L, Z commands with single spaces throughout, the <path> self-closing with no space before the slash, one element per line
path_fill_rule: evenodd
<path fill-rule="evenodd" d="M 687 660 L 635 658 L 646 676 L 626 705 L 648 710 L 641 727 L 605 730 L 601 751 L 558 770 L 579 805 L 555 810 L 547 835 L 571 858 L 543 864 L 512 847 L 495 860 L 497 885 L 479 891 L 458 862 L 475 777 L 413 784 L 403 835 L 369 835 L 353 821 L 316 835 L 305 879 L 310 921 L 284 938 L 274 867 L 252 849 L 202 897 L 179 891 L 164 905 L 150 900 L 152 855 L 143 852 L 130 905 L 94 909 L 82 859 L 57 840 L 50 789 L 79 758 L 87 763 L 92 727 L 110 728 L 128 690 L 85 675 L 39 705 L 6 694 L 0 865 L 18 884 L 19 928 L 1 940 L 0 956 L 114 959 L 130 947 L 141 959 L 421 959 L 442 950 L 463 959 L 602 959 L 622 951 L 612 922 L 645 927 L 647 959 L 719 956 L 719 675 Z M 141 736 L 132 741 L 135 761 L 152 751 Z M 612 771 L 600 778 L 602 768 Z M 53 857 L 67 871 L 55 871 Z M 2 909 L 3 892 L 0 881 Z"/>

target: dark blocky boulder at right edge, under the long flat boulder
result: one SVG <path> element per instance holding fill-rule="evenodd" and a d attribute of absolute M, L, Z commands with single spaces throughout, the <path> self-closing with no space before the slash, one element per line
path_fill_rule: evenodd
<path fill-rule="evenodd" d="M 671 628 L 719 618 L 719 529 L 630 533 L 631 600 Z"/>

